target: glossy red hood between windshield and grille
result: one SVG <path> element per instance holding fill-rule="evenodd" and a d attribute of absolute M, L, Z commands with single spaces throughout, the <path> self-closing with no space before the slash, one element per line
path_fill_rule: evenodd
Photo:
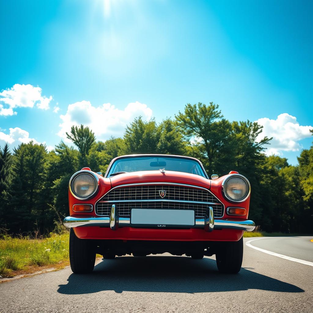
<path fill-rule="evenodd" d="M 172 182 L 179 184 L 195 185 L 210 189 L 211 181 L 205 177 L 184 172 L 165 171 L 142 171 L 119 174 L 110 177 L 112 187 L 126 184 L 146 182 Z"/>

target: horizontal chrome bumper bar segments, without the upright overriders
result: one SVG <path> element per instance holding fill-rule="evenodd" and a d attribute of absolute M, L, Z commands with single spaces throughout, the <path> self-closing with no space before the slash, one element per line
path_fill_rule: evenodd
<path fill-rule="evenodd" d="M 109 217 L 86 217 L 86 218 L 75 218 L 68 216 L 64 218 L 63 224 L 67 228 L 80 227 L 80 226 L 100 226 L 100 227 L 110 227 Z M 130 218 L 119 218 L 119 227 L 130 226 Z M 197 218 L 195 226 L 191 228 L 204 228 L 205 219 Z M 254 230 L 255 224 L 251 220 L 244 221 L 232 221 L 226 220 L 214 220 L 213 229 L 237 229 L 245 230 L 251 232 Z"/>

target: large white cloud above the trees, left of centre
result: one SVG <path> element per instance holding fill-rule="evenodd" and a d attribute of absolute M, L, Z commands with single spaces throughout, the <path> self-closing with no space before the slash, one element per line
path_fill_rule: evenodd
<path fill-rule="evenodd" d="M 148 121 L 152 110 L 138 101 L 129 103 L 124 110 L 110 103 L 95 107 L 89 101 L 76 102 L 68 106 L 65 115 L 60 115 L 63 122 L 58 135 L 68 141 L 65 133 L 71 126 L 84 124 L 95 133 L 97 140 L 106 140 L 110 136 L 122 136 L 126 125 L 139 115 Z"/>

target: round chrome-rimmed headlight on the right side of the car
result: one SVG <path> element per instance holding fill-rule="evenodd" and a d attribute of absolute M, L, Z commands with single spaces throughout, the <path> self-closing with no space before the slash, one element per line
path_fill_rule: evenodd
<path fill-rule="evenodd" d="M 232 175 L 222 183 L 223 191 L 231 202 L 242 202 L 246 200 L 250 194 L 250 184 L 246 177 L 242 175 Z"/>

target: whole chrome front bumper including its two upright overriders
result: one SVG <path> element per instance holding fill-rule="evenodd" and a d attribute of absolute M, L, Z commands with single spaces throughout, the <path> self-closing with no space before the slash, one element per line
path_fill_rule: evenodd
<path fill-rule="evenodd" d="M 76 218 L 68 216 L 64 218 L 63 224 L 67 228 L 73 227 L 89 227 L 89 226 L 100 226 L 110 227 L 115 230 L 119 227 L 137 227 L 138 225 L 132 225 L 130 218 L 119 217 L 115 205 L 112 205 L 111 213 L 109 217 L 83 217 Z M 145 227 L 145 225 L 140 225 Z M 180 226 L 166 225 L 171 228 L 181 228 Z M 158 225 L 155 225 L 158 227 Z M 154 228 L 151 225 L 147 225 L 146 228 Z M 213 208 L 209 207 L 204 218 L 196 218 L 194 226 L 188 226 L 188 228 L 204 228 L 205 231 L 211 232 L 214 229 L 236 229 L 253 231 L 255 224 L 251 220 L 230 220 L 230 219 L 215 219 L 213 216 Z"/>

